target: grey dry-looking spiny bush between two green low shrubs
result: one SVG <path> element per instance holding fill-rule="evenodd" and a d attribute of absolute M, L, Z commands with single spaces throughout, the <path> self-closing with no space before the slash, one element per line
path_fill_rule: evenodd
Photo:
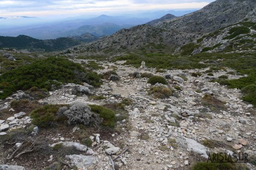
<path fill-rule="evenodd" d="M 74 103 L 69 110 L 65 111 L 64 116 L 67 117 L 69 124 L 96 124 L 99 125 L 102 119 L 99 115 L 93 113 L 89 106 L 83 102 Z"/>

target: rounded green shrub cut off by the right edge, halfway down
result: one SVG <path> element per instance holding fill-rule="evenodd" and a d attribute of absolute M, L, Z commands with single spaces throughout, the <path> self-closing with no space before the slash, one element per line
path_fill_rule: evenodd
<path fill-rule="evenodd" d="M 244 93 L 242 99 L 256 106 L 256 85 L 247 85 L 242 88 L 242 92 Z"/>

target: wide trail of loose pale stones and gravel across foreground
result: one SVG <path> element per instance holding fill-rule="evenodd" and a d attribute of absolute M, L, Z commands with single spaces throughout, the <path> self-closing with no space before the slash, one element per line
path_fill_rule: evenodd
<path fill-rule="evenodd" d="M 72 60 L 79 63 L 89 61 Z M 46 136 L 52 144 L 61 142 L 64 145 L 75 145 L 83 151 L 81 155 L 65 157 L 65 161 L 71 166 L 76 165 L 81 170 L 112 170 L 112 159 L 118 170 L 189 170 L 193 162 L 207 159 L 209 153 L 241 151 L 248 155 L 256 154 L 255 108 L 241 100 L 240 90 L 209 82 L 212 79 L 209 76 L 191 76 L 192 72 L 204 72 L 208 68 L 167 70 L 161 73 L 156 72 L 154 68 L 122 65 L 124 62 L 98 63 L 105 67 L 99 70 L 99 73 L 116 68 L 120 78 L 118 81 L 105 79 L 100 88 L 90 89 L 90 94 L 103 95 L 106 99 L 93 100 L 87 95 L 73 95 L 71 91 L 74 85 L 69 84 L 51 91 L 49 97 L 39 101 L 49 104 L 86 102 L 104 105 L 129 98 L 133 102 L 125 106 L 129 119 L 119 121 L 118 130 L 112 134 L 90 134 L 93 147 L 84 148 L 84 145 L 79 145 L 79 141 L 72 135 L 72 130 L 68 133 L 51 132 L 51 135 Z M 224 75 L 227 71 L 215 72 L 214 77 Z M 131 77 L 131 73 L 134 72 L 146 72 L 169 78 L 169 85 L 166 86 L 172 88 L 173 95 L 167 99 L 156 99 L 148 95 L 148 89 L 151 88 L 147 83 L 148 78 Z M 184 81 L 180 77 L 186 77 L 187 80 Z M 230 79 L 239 77 L 241 76 L 229 76 Z M 176 90 L 175 86 L 179 86 L 180 90 Z M 209 100 L 204 99 L 206 94 L 212 97 Z M 9 103 L 6 102 L 4 105 L 8 106 Z M 1 129 L 14 119 L 1 122 Z M 21 119 L 27 119 L 27 123 L 31 123 L 29 116 Z M 18 122 L 20 119 L 9 124 L 8 128 L 23 127 Z M 75 130 L 76 127 L 73 131 Z M 48 159 L 49 162 L 53 162 L 57 158 Z M 3 158 L 0 159 L 0 163 L 5 163 Z M 19 165 L 19 162 L 14 164 Z M 256 169 L 253 164 L 245 164 L 251 170 Z M 68 165 L 65 167 L 69 169 Z"/>

